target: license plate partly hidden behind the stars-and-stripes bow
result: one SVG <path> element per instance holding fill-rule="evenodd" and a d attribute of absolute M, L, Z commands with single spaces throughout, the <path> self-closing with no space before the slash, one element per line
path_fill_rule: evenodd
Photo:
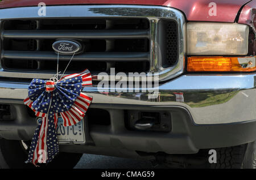
<path fill-rule="evenodd" d="M 84 119 L 76 123 L 76 125 L 64 127 L 63 119 L 59 118 L 56 131 L 59 144 L 85 143 Z"/>

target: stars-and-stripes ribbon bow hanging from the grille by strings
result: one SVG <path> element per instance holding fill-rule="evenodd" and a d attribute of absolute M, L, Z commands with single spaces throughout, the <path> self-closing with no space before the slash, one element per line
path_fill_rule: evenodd
<path fill-rule="evenodd" d="M 63 118 L 63 126 L 72 126 L 81 121 L 88 109 L 92 97 L 81 92 L 82 87 L 92 85 L 89 70 L 80 74 L 64 76 L 58 82 L 33 79 L 28 87 L 28 97 L 24 104 L 30 107 L 38 121 L 32 138 L 27 162 L 48 163 L 59 152 L 57 143 L 57 119 Z"/>

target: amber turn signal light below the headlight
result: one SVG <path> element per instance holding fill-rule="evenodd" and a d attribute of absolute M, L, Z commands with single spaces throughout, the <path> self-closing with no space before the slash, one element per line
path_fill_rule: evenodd
<path fill-rule="evenodd" d="M 255 57 L 189 57 L 187 71 L 255 71 Z"/>

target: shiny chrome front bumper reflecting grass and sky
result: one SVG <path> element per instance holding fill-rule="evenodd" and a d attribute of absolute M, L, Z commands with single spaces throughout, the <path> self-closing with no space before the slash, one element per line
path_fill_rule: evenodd
<path fill-rule="evenodd" d="M 0 82 L 2 102 L 23 100 L 28 83 Z M 93 104 L 182 106 L 196 124 L 217 124 L 256 119 L 255 74 L 250 75 L 184 75 L 159 85 L 159 96 L 148 93 L 99 93 L 97 87 L 84 91 L 93 96 Z"/>

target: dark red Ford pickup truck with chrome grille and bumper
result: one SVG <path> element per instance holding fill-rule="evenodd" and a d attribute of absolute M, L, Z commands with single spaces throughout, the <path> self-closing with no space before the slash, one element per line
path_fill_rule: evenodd
<path fill-rule="evenodd" d="M 23 100 L 32 79 L 55 75 L 56 49 L 73 46 L 67 74 L 90 70 L 92 104 L 75 126 L 59 118 L 60 153 L 41 167 L 73 168 L 90 153 L 256 168 L 255 13 L 256 0 L 2 0 L 0 168 L 33 167 L 39 118 Z M 58 57 L 63 71 L 71 55 Z M 135 76 L 119 91 L 119 72 L 158 86 Z"/>

